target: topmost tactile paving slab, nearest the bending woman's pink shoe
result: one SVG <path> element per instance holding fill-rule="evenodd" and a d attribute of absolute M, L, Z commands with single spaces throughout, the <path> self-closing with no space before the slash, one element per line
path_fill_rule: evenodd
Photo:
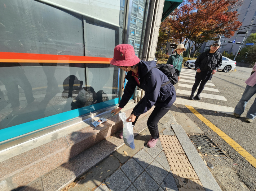
<path fill-rule="evenodd" d="M 160 135 L 160 140 L 165 153 L 185 153 L 176 136 Z"/>

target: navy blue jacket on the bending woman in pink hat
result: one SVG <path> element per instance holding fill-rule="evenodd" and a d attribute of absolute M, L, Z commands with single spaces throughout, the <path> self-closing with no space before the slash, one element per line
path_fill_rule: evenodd
<path fill-rule="evenodd" d="M 143 102 L 138 106 L 136 111 L 134 111 L 133 114 L 135 116 L 146 113 L 154 105 L 168 107 L 175 102 L 176 92 L 174 86 L 169 83 L 161 87 L 161 85 L 169 81 L 169 79 L 157 68 L 150 70 L 154 66 L 156 66 L 154 61 L 146 62 L 141 60 L 138 66 L 138 80 L 140 85 L 137 84 L 134 76 L 132 76 L 132 71 L 128 71 L 126 75 L 128 81 L 125 85 L 124 94 L 119 104 L 120 108 L 123 108 L 127 104 L 132 97 L 136 86 L 145 91 L 145 96 Z"/>

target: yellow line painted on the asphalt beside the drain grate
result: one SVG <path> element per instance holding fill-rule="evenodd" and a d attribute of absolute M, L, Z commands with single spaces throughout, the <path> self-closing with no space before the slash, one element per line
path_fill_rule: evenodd
<path fill-rule="evenodd" d="M 226 143 L 228 143 L 230 146 L 232 146 L 240 155 L 242 155 L 243 158 L 245 158 L 253 167 L 256 168 L 256 158 L 254 158 L 250 153 L 248 153 L 242 146 L 240 146 L 238 143 L 236 143 L 233 139 L 231 139 L 227 134 L 225 134 L 223 131 L 221 131 L 218 127 L 213 125 L 207 118 L 202 116 L 200 113 L 198 113 L 197 110 L 195 110 L 191 106 L 186 106 L 192 113 L 195 114 L 201 121 L 204 122 L 208 127 L 210 127 L 214 132 L 216 132 Z"/>

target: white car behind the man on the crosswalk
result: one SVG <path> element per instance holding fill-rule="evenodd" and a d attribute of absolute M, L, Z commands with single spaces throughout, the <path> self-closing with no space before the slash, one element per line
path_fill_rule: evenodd
<path fill-rule="evenodd" d="M 230 70 L 235 69 L 236 64 L 236 61 L 233 61 L 225 56 L 222 56 L 222 65 L 220 66 L 219 70 L 222 70 L 223 72 L 229 72 Z M 187 60 L 184 63 L 184 66 L 188 67 L 189 69 L 195 69 L 195 60 Z"/>

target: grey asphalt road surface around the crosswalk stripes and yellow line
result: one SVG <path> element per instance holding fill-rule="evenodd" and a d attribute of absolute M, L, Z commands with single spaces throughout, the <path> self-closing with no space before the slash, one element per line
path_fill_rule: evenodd
<path fill-rule="evenodd" d="M 236 71 L 230 71 L 228 73 L 218 71 L 215 75 L 213 75 L 211 83 L 215 84 L 214 88 L 218 89 L 220 93 L 209 91 L 203 91 L 202 93 L 222 95 L 227 99 L 227 101 L 202 98 L 200 102 L 234 108 L 239 99 L 242 97 L 246 87 L 244 81 L 250 76 L 251 71 L 251 68 L 245 67 L 236 67 Z M 188 88 L 182 87 L 179 87 L 178 89 L 189 90 Z M 189 95 L 177 94 L 177 97 L 188 99 Z M 240 119 L 225 113 L 215 113 L 214 111 L 204 110 L 196 107 L 195 109 L 256 158 L 256 119 L 252 123 L 247 123 L 244 121 L 246 113 L 255 100 L 255 97 L 256 95 L 254 95 L 247 103 L 246 110 L 241 115 Z M 180 109 L 185 112 L 186 115 L 190 117 L 190 119 L 194 121 L 195 124 L 198 125 L 198 127 L 220 147 L 220 149 L 225 151 L 228 157 L 234 161 L 234 163 L 238 164 L 234 167 L 234 171 L 239 176 L 240 181 L 242 181 L 249 188 L 249 190 L 256 190 L 256 168 L 251 166 L 247 160 L 245 160 L 228 143 L 220 138 L 219 135 L 200 121 L 199 118 L 191 113 L 191 111 L 188 110 L 184 105 L 178 105 L 178 107 L 180 107 Z"/>

